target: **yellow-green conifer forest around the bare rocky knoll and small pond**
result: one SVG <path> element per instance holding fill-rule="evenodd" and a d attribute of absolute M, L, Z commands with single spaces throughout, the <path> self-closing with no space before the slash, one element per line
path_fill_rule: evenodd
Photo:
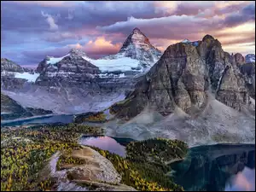
<path fill-rule="evenodd" d="M 103 135 L 100 127 L 88 125 L 36 125 L 28 128 L 1 129 L 1 190 L 55 190 L 55 178 L 43 174 L 49 158 L 57 151 L 61 156 L 57 170 L 66 165 L 83 165 L 84 160 L 72 157 L 74 149 L 82 148 L 82 135 Z M 113 163 L 122 177 L 122 183 L 137 190 L 164 191 L 183 188 L 166 176 L 171 171 L 166 162 L 183 159 L 188 146 L 178 140 L 152 138 L 131 142 L 126 157 L 100 148 L 98 151 Z"/>

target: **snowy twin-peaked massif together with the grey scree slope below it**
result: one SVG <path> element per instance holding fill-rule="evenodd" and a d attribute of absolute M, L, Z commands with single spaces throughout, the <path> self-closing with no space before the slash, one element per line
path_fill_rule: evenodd
<path fill-rule="evenodd" d="M 46 56 L 38 64 L 35 83 L 20 85 L 19 90 L 6 86 L 3 92 L 24 107 L 55 113 L 96 112 L 123 100 L 160 55 L 135 28 L 116 55 L 95 60 L 71 49 L 61 57 Z"/>

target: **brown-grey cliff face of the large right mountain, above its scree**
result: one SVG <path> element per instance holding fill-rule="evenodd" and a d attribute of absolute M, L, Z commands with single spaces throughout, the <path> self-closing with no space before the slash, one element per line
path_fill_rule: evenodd
<path fill-rule="evenodd" d="M 243 57 L 224 52 L 218 39 L 210 35 L 197 45 L 173 44 L 125 102 L 113 105 L 113 113 L 130 119 L 148 105 L 164 115 L 176 108 L 195 113 L 206 105 L 209 90 L 218 101 L 240 110 L 248 103 L 249 91 L 236 63 L 243 64 Z"/>

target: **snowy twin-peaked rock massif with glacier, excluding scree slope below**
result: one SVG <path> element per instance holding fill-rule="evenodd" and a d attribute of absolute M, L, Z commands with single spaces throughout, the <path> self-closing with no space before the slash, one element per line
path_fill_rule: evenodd
<path fill-rule="evenodd" d="M 154 48 L 143 32 L 135 28 L 116 55 L 94 60 L 80 49 L 71 49 L 59 58 L 47 56 L 38 65 L 40 76 L 37 84 L 55 86 L 65 82 L 65 86 L 71 86 L 90 82 L 90 86 L 106 86 L 114 81 L 123 86 L 127 79 L 148 70 L 160 59 L 160 55 L 160 50 Z"/>

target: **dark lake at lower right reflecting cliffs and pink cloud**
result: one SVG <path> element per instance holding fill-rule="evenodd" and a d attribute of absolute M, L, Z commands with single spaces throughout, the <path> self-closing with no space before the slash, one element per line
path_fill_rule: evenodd
<path fill-rule="evenodd" d="M 172 177 L 185 190 L 254 190 L 255 145 L 217 144 L 190 148 L 173 163 Z"/>

